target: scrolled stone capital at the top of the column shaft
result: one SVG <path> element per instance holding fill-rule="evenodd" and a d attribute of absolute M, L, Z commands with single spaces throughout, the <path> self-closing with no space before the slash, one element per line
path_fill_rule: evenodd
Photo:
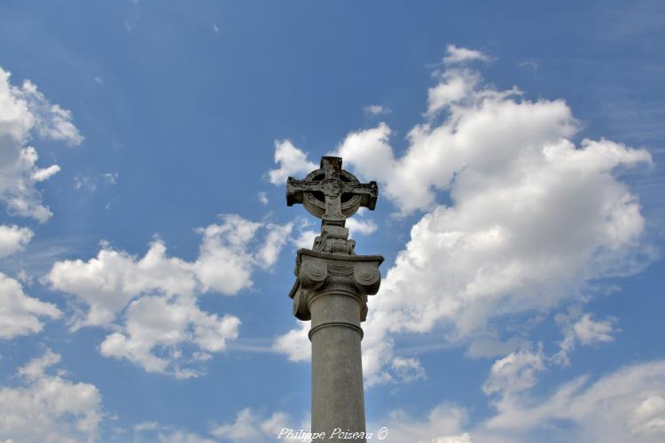
<path fill-rule="evenodd" d="M 360 322 L 367 317 L 367 296 L 379 291 L 381 255 L 340 255 L 298 250 L 295 260 L 296 279 L 289 297 L 293 315 L 299 320 L 311 319 L 310 304 L 327 293 L 348 295 L 361 305 Z"/>

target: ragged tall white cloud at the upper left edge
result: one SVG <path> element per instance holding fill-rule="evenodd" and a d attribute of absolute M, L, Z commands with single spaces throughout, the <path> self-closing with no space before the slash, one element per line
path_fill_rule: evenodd
<path fill-rule="evenodd" d="M 69 111 L 51 104 L 30 82 L 12 86 L 10 73 L 0 68 L 0 201 L 10 214 L 47 221 L 51 217 L 36 183 L 56 174 L 60 167 L 37 167 L 39 156 L 27 145 L 33 134 L 70 146 L 83 137 L 72 123 Z"/>

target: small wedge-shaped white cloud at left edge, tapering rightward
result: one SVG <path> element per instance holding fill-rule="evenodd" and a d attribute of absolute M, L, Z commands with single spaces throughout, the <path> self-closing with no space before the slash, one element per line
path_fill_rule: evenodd
<path fill-rule="evenodd" d="M 58 307 L 27 296 L 18 281 L 0 272 L 0 338 L 34 334 L 43 329 L 40 317 L 60 315 Z"/>

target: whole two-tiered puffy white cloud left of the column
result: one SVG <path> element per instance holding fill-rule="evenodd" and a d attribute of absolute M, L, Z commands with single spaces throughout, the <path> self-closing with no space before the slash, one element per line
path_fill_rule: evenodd
<path fill-rule="evenodd" d="M 293 223 L 223 215 L 220 223 L 197 229 L 202 239 L 196 260 L 169 257 L 160 238 L 142 258 L 103 243 L 97 257 L 57 261 L 44 279 L 87 307 L 74 316 L 73 329 L 113 326 L 101 354 L 148 372 L 196 377 L 210 353 L 223 351 L 227 340 L 238 337 L 240 324 L 235 316 L 201 311 L 197 297 L 250 288 L 254 270 L 277 261 L 292 229 Z"/>

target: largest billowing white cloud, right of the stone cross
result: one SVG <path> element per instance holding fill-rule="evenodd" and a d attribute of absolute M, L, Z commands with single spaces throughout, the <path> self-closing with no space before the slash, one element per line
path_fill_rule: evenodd
<path fill-rule="evenodd" d="M 616 174 L 650 164 L 649 152 L 606 139 L 575 144 L 579 124 L 563 100 L 529 101 L 458 67 L 440 74 L 428 103 L 443 118 L 412 128 L 403 155 L 385 123 L 337 149 L 359 177 L 379 181 L 398 214 L 423 213 L 369 302 L 371 382 L 395 378 L 395 333 L 503 339 L 502 318 L 579 304 L 591 281 L 649 260 L 638 197 Z"/>

